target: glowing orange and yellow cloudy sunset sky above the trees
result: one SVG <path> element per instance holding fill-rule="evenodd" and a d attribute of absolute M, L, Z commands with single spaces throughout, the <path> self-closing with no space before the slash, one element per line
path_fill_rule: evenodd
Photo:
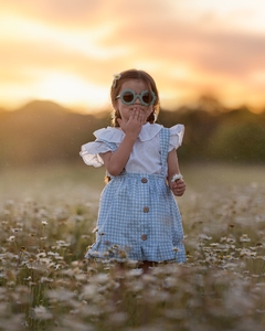
<path fill-rule="evenodd" d="M 113 74 L 145 70 L 161 106 L 212 95 L 265 108 L 263 0 L 0 0 L 0 108 L 109 107 Z"/>

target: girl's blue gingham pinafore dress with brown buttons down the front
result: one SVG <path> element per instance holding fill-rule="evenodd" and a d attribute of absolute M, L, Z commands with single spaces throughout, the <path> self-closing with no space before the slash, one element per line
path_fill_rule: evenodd
<path fill-rule="evenodd" d="M 170 131 L 162 128 L 159 135 L 161 173 L 112 177 L 100 195 L 96 242 L 87 258 L 186 261 L 181 215 L 166 182 Z"/>

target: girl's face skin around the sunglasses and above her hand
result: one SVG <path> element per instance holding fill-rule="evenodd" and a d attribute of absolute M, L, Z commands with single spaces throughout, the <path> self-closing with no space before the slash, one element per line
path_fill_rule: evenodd
<path fill-rule="evenodd" d="M 148 86 L 141 79 L 126 81 L 120 87 L 119 95 L 120 93 L 123 93 L 123 90 L 127 88 L 132 89 L 137 95 L 140 95 L 144 90 L 148 90 Z M 145 115 L 145 119 L 147 119 L 150 116 L 150 114 L 153 111 L 153 106 L 142 105 L 139 97 L 137 97 L 137 99 L 131 105 L 125 105 L 119 97 L 116 99 L 115 109 L 119 110 L 119 114 L 124 121 L 128 121 L 130 114 L 137 109 L 142 111 L 142 114 Z"/>

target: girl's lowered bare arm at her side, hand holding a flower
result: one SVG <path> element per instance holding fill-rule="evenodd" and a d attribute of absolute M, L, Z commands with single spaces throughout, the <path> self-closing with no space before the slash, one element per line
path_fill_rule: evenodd
<path fill-rule="evenodd" d="M 183 179 L 179 179 L 177 182 L 172 182 L 172 178 L 174 174 L 179 174 L 179 161 L 177 157 L 176 149 L 172 149 L 168 153 L 168 183 L 169 188 L 172 190 L 173 194 L 177 196 L 181 196 L 186 191 L 186 182 Z"/>

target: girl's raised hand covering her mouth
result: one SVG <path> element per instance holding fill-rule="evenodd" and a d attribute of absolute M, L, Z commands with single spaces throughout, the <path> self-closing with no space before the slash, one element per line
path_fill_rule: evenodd
<path fill-rule="evenodd" d="M 128 120 L 117 119 L 121 130 L 132 138 L 137 138 L 141 131 L 142 125 L 146 122 L 145 114 L 140 108 L 134 108 L 130 110 Z"/>

